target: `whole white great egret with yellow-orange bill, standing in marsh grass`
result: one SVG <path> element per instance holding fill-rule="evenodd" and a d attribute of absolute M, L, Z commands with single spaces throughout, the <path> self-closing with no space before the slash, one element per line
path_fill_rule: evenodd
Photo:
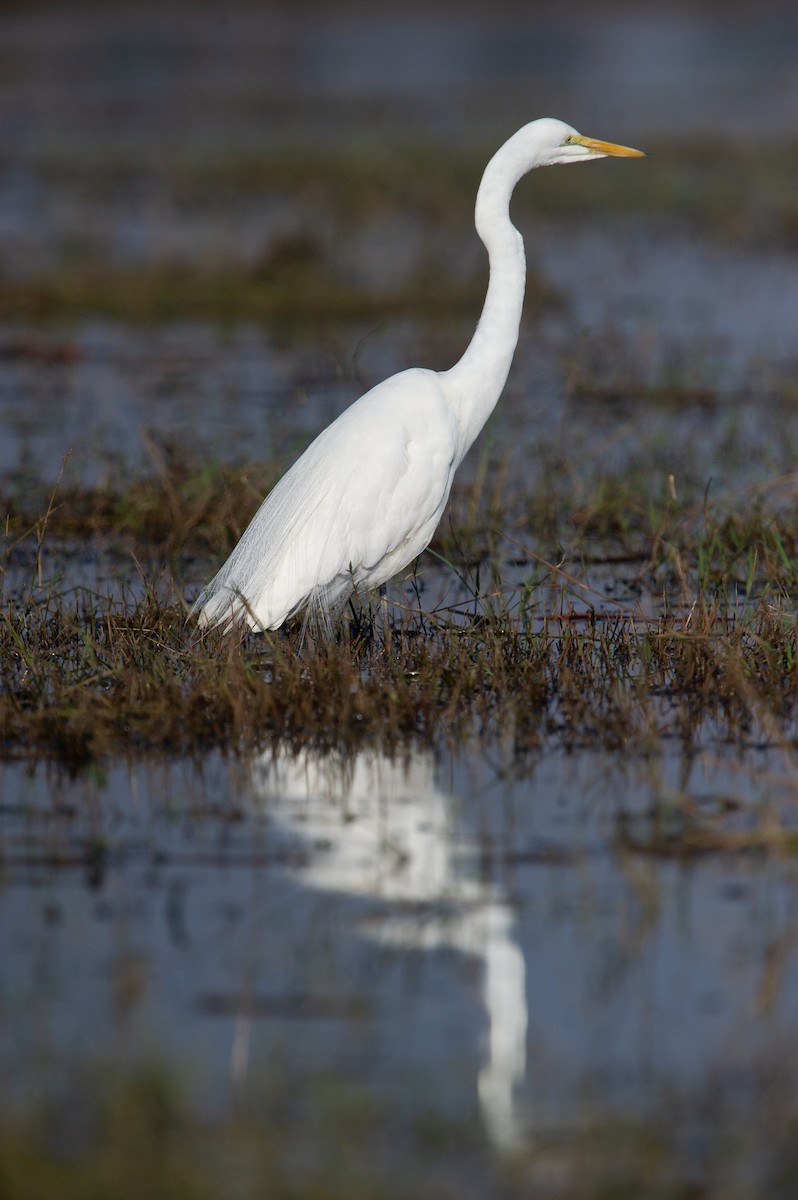
<path fill-rule="evenodd" d="M 493 155 L 475 210 L 490 282 L 462 359 L 449 371 L 401 371 L 319 433 L 198 596 L 200 625 L 277 629 L 307 608 L 329 631 L 354 590 L 382 587 L 425 550 L 518 341 L 526 262 L 510 221 L 512 190 L 534 167 L 606 155 L 643 157 L 551 118 L 524 125 Z"/>

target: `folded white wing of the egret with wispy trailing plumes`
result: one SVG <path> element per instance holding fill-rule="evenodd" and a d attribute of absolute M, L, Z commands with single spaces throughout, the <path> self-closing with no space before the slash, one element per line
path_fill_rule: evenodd
<path fill-rule="evenodd" d="M 433 372 L 367 392 L 269 493 L 199 596 L 206 624 L 276 628 L 312 604 L 335 616 L 430 540 L 454 473 L 454 420 Z"/>

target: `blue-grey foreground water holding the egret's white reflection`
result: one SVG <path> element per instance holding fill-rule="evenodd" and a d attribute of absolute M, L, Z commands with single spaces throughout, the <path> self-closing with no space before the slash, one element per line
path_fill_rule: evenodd
<path fill-rule="evenodd" d="M 30 1102 L 86 1055 L 157 1054 L 226 1111 L 270 1073 L 326 1072 L 478 1111 L 498 1146 L 708 1081 L 744 1114 L 798 1036 L 796 863 L 671 860 L 620 830 L 733 799 L 757 827 L 790 810 L 794 764 L 508 766 L 7 766 L 6 1085 Z"/>

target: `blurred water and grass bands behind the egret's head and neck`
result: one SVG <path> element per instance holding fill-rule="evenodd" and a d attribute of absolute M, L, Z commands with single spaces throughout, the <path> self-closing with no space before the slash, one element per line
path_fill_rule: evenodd
<path fill-rule="evenodd" d="M 535 338 L 500 449 L 556 431 L 565 391 L 592 398 L 595 438 L 607 392 L 689 407 L 794 377 L 792 5 L 32 2 L 0 20 L 7 470 L 54 478 L 68 448 L 80 479 L 140 467 L 144 427 L 281 455 L 365 385 L 449 366 L 486 282 L 481 169 L 538 115 L 653 156 L 518 188 Z M 715 438 L 688 416 L 706 474 Z M 750 433 L 779 454 L 784 430 Z"/>

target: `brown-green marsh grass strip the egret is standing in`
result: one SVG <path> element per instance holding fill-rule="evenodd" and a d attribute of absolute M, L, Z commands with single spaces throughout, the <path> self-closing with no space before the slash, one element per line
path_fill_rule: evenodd
<path fill-rule="evenodd" d="M 554 511 L 548 496 L 535 538 L 518 512 L 544 497 L 522 503 L 500 472 L 478 472 L 427 556 L 451 588 L 428 600 L 424 571 L 397 588 L 388 643 L 367 598 L 330 641 L 307 637 L 301 622 L 203 636 L 175 580 L 206 576 L 274 473 L 197 469 L 166 451 L 155 461 L 130 487 L 59 484 L 41 496 L 41 516 L 25 509 L 29 496 L 6 499 L 6 756 L 77 769 L 108 754 L 276 740 L 352 751 L 476 737 L 522 756 L 551 743 L 647 752 L 664 738 L 698 746 L 709 732 L 793 737 L 790 514 L 680 505 L 667 490 L 635 504 L 604 480 L 577 510 Z M 569 529 L 575 562 L 557 557 Z M 112 545 L 120 572 L 131 580 L 132 559 L 136 574 L 113 595 L 48 582 L 42 560 L 59 540 L 84 552 Z M 160 564 L 151 577 L 148 563 Z M 592 582 L 598 568 L 626 572 L 622 599 Z"/>

